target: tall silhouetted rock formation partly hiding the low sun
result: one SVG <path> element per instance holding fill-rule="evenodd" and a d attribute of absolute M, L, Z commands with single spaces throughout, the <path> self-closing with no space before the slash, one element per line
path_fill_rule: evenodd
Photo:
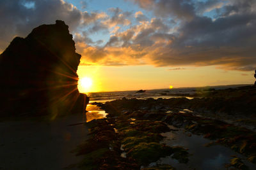
<path fill-rule="evenodd" d="M 26 38 L 14 38 L 0 55 L 1 115 L 82 111 L 76 74 L 80 58 L 61 20 L 36 27 Z"/>

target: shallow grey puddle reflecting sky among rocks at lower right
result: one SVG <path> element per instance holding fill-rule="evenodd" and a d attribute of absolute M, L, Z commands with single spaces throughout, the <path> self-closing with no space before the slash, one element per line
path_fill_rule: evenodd
<path fill-rule="evenodd" d="M 206 147 L 205 144 L 210 143 L 211 140 L 205 139 L 203 136 L 191 134 L 190 132 L 184 132 L 177 128 L 170 126 L 171 131 L 163 133 L 165 136 L 162 143 L 166 143 L 168 146 L 182 146 L 188 148 L 189 162 L 187 164 L 181 164 L 177 160 L 172 159 L 171 155 L 161 158 L 157 162 L 152 162 L 149 166 L 156 166 L 157 164 L 170 164 L 177 169 L 227 169 L 225 164 L 230 163 L 230 159 L 233 159 L 233 155 L 243 159 L 244 164 L 250 169 L 256 169 L 256 166 L 247 160 L 243 155 L 230 150 L 225 146 L 214 145 Z"/>

